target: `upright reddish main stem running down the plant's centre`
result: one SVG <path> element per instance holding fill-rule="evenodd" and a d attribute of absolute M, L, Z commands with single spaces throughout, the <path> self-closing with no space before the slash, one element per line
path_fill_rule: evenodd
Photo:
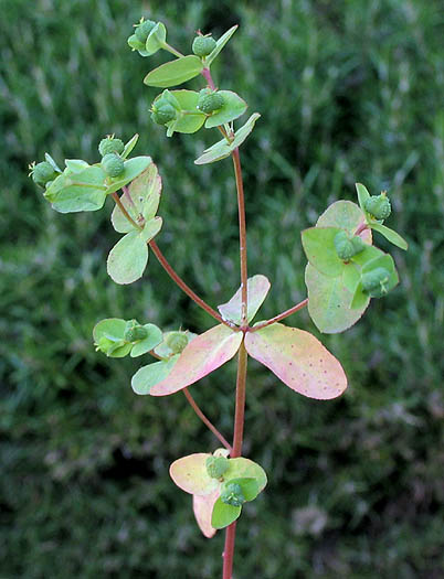
<path fill-rule="evenodd" d="M 237 206 L 239 206 L 239 240 L 240 240 L 240 257 L 241 257 L 241 302 L 242 302 L 241 329 L 245 332 L 249 328 L 246 225 L 245 225 L 244 185 L 243 185 L 243 180 L 242 180 L 241 158 L 239 154 L 239 149 L 234 149 L 232 157 L 233 157 L 234 174 L 236 179 Z M 244 421 L 245 421 L 246 365 L 247 365 L 247 353 L 245 350 L 245 345 L 242 342 L 241 347 L 239 349 L 239 354 L 237 354 L 236 406 L 235 406 L 235 411 L 234 411 L 233 452 L 231 453 L 231 458 L 236 458 L 242 454 L 242 442 L 243 442 Z M 222 579 L 232 579 L 235 537 L 236 537 L 236 522 L 228 526 L 225 530 L 225 546 L 223 550 Z"/>

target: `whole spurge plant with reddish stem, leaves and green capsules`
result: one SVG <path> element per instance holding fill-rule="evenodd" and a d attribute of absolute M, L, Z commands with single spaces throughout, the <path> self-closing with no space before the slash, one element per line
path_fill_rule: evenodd
<path fill-rule="evenodd" d="M 271 285 L 261 274 L 247 277 L 240 148 L 261 115 L 254 112 L 241 127 L 235 127 L 234 121 L 244 115 L 247 105 L 236 93 L 219 90 L 211 75 L 211 65 L 236 28 L 218 41 L 198 32 L 190 42 L 192 54 L 189 55 L 167 43 L 161 22 L 141 19 L 128 39 L 129 46 L 144 57 L 159 50 L 175 56 L 148 73 L 144 81 L 150 87 L 163 89 L 150 108 L 154 122 L 165 127 L 169 137 L 175 132 L 194 133 L 202 127 L 214 130 L 220 139 L 194 163 L 215 163 L 230 157 L 233 162 L 239 203 L 241 287 L 226 303 L 218 307 L 219 311 L 187 286 L 155 240 L 162 227 L 162 218 L 157 216 L 162 183 L 150 157 L 130 158 L 137 135 L 126 144 L 114 135 L 104 138 L 98 146 L 102 160 L 93 164 L 66 159 L 62 170 L 46 154 L 45 161 L 31 165 L 33 180 L 44 187 L 44 196 L 60 213 L 97 211 L 108 196 L 113 199 L 112 224 L 121 237 L 109 251 L 107 271 L 116 283 L 131 283 L 141 278 L 150 248 L 172 280 L 215 321 L 211 330 L 197 335 L 186 330 L 162 331 L 146 321 L 108 318 L 96 324 L 93 335 L 97 351 L 109 357 L 129 354 L 156 358 L 135 373 L 134 392 L 140 396 L 169 396 L 182 390 L 199 418 L 222 444 L 223 448 L 213 452 L 201 449 L 179 458 L 171 464 L 170 475 L 180 489 L 192 495 L 194 515 L 205 537 L 225 528 L 223 579 L 232 577 L 236 519 L 242 505 L 254 501 L 267 482 L 264 470 L 242 457 L 249 355 L 302 396 L 318 400 L 340 396 L 347 387 L 340 363 L 309 332 L 281 322 L 308 307 L 320 332 L 343 332 L 361 318 L 371 298 L 384 297 L 398 283 L 393 259 L 373 245 L 372 233 L 406 249 L 404 239 L 383 225 L 391 212 L 385 192 L 370 195 L 364 185 L 358 183 L 359 205 L 337 201 L 327 207 L 314 227 L 302 232 L 308 260 L 305 270 L 307 299 L 269 320 L 252 323 Z M 204 81 L 200 92 L 169 90 L 199 75 Z M 234 433 L 230 443 L 199 408 L 188 386 L 235 356 Z"/>

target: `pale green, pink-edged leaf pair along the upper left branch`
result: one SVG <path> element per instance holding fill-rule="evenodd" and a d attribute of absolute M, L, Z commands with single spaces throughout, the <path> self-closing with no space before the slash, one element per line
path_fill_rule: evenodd
<path fill-rule="evenodd" d="M 124 208 L 138 227 L 128 221 L 118 205 L 112 214 L 115 230 L 126 234 L 113 247 L 107 260 L 107 271 L 116 283 L 131 283 L 144 275 L 148 264 L 147 244 L 162 226 L 162 218 L 156 217 L 160 193 L 161 180 L 156 165 L 149 159 L 145 171 L 120 196 Z"/>

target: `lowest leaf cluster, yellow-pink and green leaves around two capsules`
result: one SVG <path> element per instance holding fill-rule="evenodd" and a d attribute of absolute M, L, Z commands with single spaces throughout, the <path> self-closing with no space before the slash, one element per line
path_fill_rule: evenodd
<path fill-rule="evenodd" d="M 256 498 L 267 483 L 262 467 L 244 458 L 230 459 L 221 479 L 214 479 L 207 469 L 207 461 L 211 457 L 199 452 L 178 459 L 170 467 L 170 476 L 175 483 L 193 495 L 195 519 L 203 535 L 209 538 L 216 529 L 231 525 L 241 515 L 241 505 L 228 504 L 221 498 L 221 493 L 229 484 L 239 485 L 244 501 L 250 502 Z"/>

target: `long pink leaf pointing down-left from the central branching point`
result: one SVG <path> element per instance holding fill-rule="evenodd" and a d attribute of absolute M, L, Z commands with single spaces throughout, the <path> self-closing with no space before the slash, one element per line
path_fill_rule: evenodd
<path fill-rule="evenodd" d="M 242 337 L 242 332 L 234 332 L 223 324 L 198 335 L 180 354 L 168 377 L 156 384 L 149 394 L 167 396 L 200 380 L 236 354 Z"/>

